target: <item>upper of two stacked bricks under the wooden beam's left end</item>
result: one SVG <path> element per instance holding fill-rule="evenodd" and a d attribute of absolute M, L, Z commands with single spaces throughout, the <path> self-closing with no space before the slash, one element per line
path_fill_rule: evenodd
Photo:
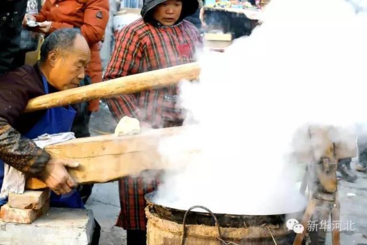
<path fill-rule="evenodd" d="M 49 198 L 49 189 L 25 191 L 23 194 L 9 194 L 8 205 L 18 209 L 41 209 Z"/>

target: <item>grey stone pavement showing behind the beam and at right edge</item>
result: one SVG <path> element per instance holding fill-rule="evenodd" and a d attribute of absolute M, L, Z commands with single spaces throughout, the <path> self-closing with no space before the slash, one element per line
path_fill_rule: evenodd
<path fill-rule="evenodd" d="M 91 118 L 91 133 L 112 133 L 115 120 L 105 104 L 102 103 L 98 113 L 93 113 Z M 354 168 L 355 162 L 352 162 Z M 339 196 L 341 202 L 341 244 L 342 245 L 367 245 L 367 174 L 358 173 L 358 180 L 349 183 L 339 181 Z M 96 184 L 87 203 L 87 208 L 92 209 L 95 219 L 102 227 L 101 245 L 125 245 L 126 231 L 114 226 L 120 210 L 117 182 Z M 331 245 L 330 234 L 327 244 Z"/>

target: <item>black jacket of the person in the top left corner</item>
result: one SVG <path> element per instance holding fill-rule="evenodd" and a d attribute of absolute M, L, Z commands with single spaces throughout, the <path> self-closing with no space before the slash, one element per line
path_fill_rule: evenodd
<path fill-rule="evenodd" d="M 14 68 L 26 8 L 27 0 L 0 0 L 0 75 Z"/>

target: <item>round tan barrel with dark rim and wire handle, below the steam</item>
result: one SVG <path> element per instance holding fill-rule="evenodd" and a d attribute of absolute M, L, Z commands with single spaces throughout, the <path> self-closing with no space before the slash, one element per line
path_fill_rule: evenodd
<path fill-rule="evenodd" d="M 149 195 L 149 194 L 148 194 Z M 146 196 L 147 197 L 147 196 Z M 155 204 L 147 199 L 145 214 L 147 245 L 181 245 L 184 210 Z M 232 245 L 293 244 L 295 233 L 288 231 L 285 215 L 244 216 L 214 214 L 220 226 L 221 239 Z M 293 214 L 298 218 L 299 214 Z M 292 217 L 292 218 L 293 218 Z M 209 213 L 191 212 L 186 217 L 185 245 L 220 245 L 218 228 Z M 287 216 L 287 219 L 289 216 Z"/>

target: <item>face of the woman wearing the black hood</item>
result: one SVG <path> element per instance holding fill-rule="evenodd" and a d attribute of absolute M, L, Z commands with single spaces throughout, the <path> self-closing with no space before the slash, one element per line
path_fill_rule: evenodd
<path fill-rule="evenodd" d="M 154 9 L 153 18 L 162 25 L 174 25 L 180 19 L 181 11 L 181 0 L 167 0 Z"/>

